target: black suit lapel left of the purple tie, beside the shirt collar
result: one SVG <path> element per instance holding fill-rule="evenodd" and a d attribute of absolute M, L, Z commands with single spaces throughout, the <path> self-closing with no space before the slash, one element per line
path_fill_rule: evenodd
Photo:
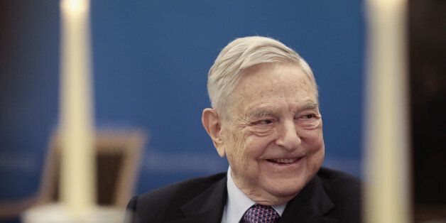
<path fill-rule="evenodd" d="M 185 219 L 175 222 L 221 222 L 227 200 L 226 181 L 226 177 L 222 178 L 193 200 L 181 206 Z"/>

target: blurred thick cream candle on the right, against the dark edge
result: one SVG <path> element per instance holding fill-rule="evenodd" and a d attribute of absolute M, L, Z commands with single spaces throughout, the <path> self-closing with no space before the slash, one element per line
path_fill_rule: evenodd
<path fill-rule="evenodd" d="M 406 1 L 368 0 L 366 222 L 410 222 Z"/>

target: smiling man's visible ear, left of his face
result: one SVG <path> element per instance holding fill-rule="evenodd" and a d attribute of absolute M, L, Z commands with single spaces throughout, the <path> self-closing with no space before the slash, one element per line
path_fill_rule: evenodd
<path fill-rule="evenodd" d="M 201 121 L 203 126 L 207 131 L 207 134 L 212 139 L 212 143 L 214 143 L 215 148 L 217 148 L 217 153 L 219 156 L 224 157 L 224 142 L 220 133 L 222 131 L 222 124 L 219 121 L 219 116 L 217 114 L 216 109 L 204 109 L 201 117 Z"/>

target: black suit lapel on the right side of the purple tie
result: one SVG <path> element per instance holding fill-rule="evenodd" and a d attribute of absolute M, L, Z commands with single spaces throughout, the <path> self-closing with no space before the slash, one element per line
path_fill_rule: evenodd
<path fill-rule="evenodd" d="M 336 219 L 325 217 L 334 207 L 316 175 L 288 202 L 279 222 L 337 222 Z"/>

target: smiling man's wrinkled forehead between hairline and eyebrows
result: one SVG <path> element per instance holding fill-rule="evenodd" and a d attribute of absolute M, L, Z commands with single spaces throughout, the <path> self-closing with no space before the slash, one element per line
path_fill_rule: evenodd
<path fill-rule="evenodd" d="M 294 110 L 298 107 L 317 108 L 314 87 L 305 72 L 293 63 L 261 64 L 245 70 L 238 85 L 227 98 L 227 105 L 246 114 L 251 107 L 280 100 L 278 97 L 289 99 Z M 273 107 L 257 114 L 266 112 L 274 112 Z"/>

